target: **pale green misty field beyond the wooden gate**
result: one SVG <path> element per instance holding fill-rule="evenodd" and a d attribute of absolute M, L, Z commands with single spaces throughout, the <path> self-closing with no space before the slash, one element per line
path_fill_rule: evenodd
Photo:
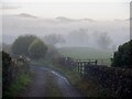
<path fill-rule="evenodd" d="M 62 47 L 58 48 L 58 52 L 63 56 L 74 59 L 97 59 L 99 65 L 111 65 L 112 52 L 110 51 L 99 51 L 89 47 Z"/>

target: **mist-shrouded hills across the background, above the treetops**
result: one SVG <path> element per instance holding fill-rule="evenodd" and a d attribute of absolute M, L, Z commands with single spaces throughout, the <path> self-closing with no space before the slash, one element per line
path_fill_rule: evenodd
<path fill-rule="evenodd" d="M 58 16 L 56 19 L 42 19 L 28 13 L 3 15 L 3 34 L 4 35 L 23 35 L 36 34 L 44 36 L 52 33 L 63 34 L 65 38 L 70 32 L 79 29 L 88 30 L 87 34 L 92 42 L 95 33 L 109 33 L 116 45 L 119 45 L 129 40 L 129 21 L 98 21 L 94 19 L 69 19 Z M 7 37 L 8 38 L 8 37 Z M 12 40 L 12 38 L 9 38 Z M 9 41 L 6 40 L 4 41 Z M 68 45 L 68 44 L 66 44 Z"/>

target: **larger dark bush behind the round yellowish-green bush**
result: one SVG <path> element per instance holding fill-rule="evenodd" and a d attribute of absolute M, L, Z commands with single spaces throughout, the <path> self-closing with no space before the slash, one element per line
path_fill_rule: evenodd
<path fill-rule="evenodd" d="M 14 55 L 29 55 L 28 48 L 35 38 L 37 37 L 34 35 L 19 36 L 12 44 L 12 53 Z"/>

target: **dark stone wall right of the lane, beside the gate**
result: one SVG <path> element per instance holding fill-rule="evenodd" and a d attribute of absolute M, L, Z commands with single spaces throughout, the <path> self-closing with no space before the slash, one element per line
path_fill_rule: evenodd
<path fill-rule="evenodd" d="M 110 96 L 132 96 L 132 69 L 87 65 L 84 78 L 109 89 Z"/>

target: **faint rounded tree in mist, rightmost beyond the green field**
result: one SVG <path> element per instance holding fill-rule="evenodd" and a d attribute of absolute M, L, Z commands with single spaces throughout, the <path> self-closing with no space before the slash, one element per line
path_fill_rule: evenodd
<path fill-rule="evenodd" d="M 108 50 L 111 42 L 112 40 L 106 32 L 97 35 L 97 44 L 101 50 Z"/>

